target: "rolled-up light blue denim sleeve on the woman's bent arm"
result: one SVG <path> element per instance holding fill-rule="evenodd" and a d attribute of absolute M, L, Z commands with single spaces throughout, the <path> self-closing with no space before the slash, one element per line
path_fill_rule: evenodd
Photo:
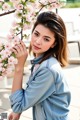
<path fill-rule="evenodd" d="M 14 112 L 22 111 L 45 100 L 55 92 L 54 77 L 48 68 L 40 70 L 30 82 L 26 90 L 21 89 L 10 96 L 11 107 Z"/>

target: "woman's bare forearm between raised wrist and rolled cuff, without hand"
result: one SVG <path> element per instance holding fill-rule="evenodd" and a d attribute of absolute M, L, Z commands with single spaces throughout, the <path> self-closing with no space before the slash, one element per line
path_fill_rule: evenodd
<path fill-rule="evenodd" d="M 21 67 L 17 67 L 15 69 L 13 84 L 12 84 L 12 92 L 22 89 L 23 71 L 24 71 L 24 68 L 21 68 Z"/>

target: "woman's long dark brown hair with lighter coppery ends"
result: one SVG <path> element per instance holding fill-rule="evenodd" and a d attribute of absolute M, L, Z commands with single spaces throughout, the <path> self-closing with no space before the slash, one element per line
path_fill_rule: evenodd
<path fill-rule="evenodd" d="M 62 18 L 58 14 L 51 11 L 40 13 L 33 26 L 32 32 L 39 24 L 49 28 L 49 30 L 55 34 L 55 42 L 56 42 L 53 48 L 50 48 L 48 51 L 44 53 L 42 61 L 46 60 L 50 56 L 54 56 L 60 62 L 60 65 L 62 67 L 66 66 L 68 63 L 67 37 L 66 37 L 67 35 L 66 35 L 66 27 Z M 31 46 L 30 46 L 30 51 L 31 51 Z"/>

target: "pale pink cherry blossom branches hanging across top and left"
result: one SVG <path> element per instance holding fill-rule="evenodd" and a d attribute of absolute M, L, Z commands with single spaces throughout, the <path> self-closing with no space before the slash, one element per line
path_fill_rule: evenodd
<path fill-rule="evenodd" d="M 60 0 L 0 0 L 1 16 L 14 13 L 14 21 L 7 35 L 7 43 L 2 44 L 0 40 L 0 79 L 14 69 L 17 59 L 11 48 L 20 42 L 28 39 L 29 32 L 36 16 L 44 9 L 52 10 L 61 6 Z M 46 4 L 45 4 L 46 3 Z M 35 9 L 34 9 L 35 8 Z M 13 9 L 13 10 L 11 10 Z M 27 30 L 27 31 L 26 31 Z M 27 33 L 28 32 L 28 33 Z"/>

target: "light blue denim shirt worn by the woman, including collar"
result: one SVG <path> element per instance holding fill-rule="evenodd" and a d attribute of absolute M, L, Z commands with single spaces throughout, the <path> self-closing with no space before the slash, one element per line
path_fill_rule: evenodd
<path fill-rule="evenodd" d="M 32 64 L 41 59 L 34 59 Z M 32 72 L 26 89 L 12 93 L 10 101 L 15 113 L 33 107 L 33 120 L 69 120 L 71 94 L 59 62 L 54 57 L 43 61 Z"/>

